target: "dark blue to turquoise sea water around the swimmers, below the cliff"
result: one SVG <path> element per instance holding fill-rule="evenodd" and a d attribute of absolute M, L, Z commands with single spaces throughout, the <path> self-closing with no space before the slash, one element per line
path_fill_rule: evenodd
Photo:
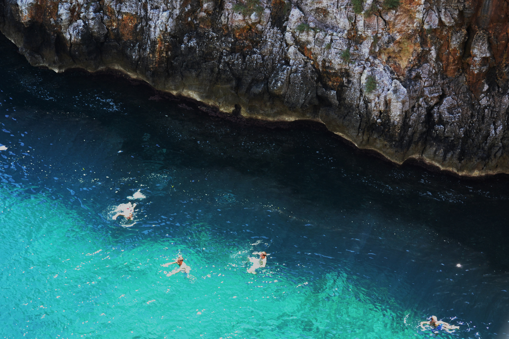
<path fill-rule="evenodd" d="M 418 338 L 431 315 L 509 337 L 506 178 L 232 124 L 2 39 L 2 337 Z M 136 224 L 112 221 L 138 190 Z M 191 279 L 161 267 L 179 254 Z"/>

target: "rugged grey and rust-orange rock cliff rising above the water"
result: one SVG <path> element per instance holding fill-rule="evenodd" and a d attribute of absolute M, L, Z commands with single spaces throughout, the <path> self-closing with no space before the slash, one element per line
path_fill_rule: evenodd
<path fill-rule="evenodd" d="M 509 173 L 504 0 L 2 0 L 34 66 L 115 69 L 224 113 L 314 120 L 402 164 Z"/>

